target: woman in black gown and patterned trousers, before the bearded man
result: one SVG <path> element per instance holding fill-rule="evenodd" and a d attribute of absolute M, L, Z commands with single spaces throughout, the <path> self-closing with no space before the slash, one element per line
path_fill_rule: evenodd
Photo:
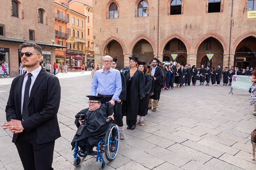
<path fill-rule="evenodd" d="M 149 102 L 149 95 L 152 87 L 152 76 L 149 75 L 147 72 L 147 66 L 145 62 L 139 62 L 139 68 L 141 72 L 143 72 L 144 80 L 145 80 L 145 92 L 146 96 L 139 100 L 139 109 L 137 115 L 137 122 L 140 123 L 140 126 L 144 126 L 144 117 L 148 112 L 148 102 Z"/>

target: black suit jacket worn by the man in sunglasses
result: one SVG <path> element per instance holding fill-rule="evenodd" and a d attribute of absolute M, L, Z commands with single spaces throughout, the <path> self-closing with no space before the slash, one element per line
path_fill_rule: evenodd
<path fill-rule="evenodd" d="M 25 74 L 12 81 L 10 95 L 6 106 L 6 119 L 21 120 L 21 90 Z M 32 133 L 37 143 L 46 143 L 59 138 L 60 129 L 57 112 L 60 105 L 60 83 L 54 75 L 42 69 L 30 92 L 28 112 L 29 117 L 21 122 L 24 132 Z M 13 134 L 15 142 L 18 134 Z"/>

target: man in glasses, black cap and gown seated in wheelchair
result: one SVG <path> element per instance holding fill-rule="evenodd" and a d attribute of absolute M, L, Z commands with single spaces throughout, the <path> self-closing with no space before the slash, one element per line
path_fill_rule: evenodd
<path fill-rule="evenodd" d="M 107 122 L 106 119 L 113 116 L 113 105 L 110 102 L 101 104 L 100 99 L 103 96 L 89 97 L 89 108 L 85 108 L 76 114 L 75 124 L 78 127 L 71 145 L 72 150 L 75 147 L 75 142 L 78 141 L 80 152 L 89 155 L 94 146 L 104 138 L 107 129 L 112 124 L 112 121 Z"/>

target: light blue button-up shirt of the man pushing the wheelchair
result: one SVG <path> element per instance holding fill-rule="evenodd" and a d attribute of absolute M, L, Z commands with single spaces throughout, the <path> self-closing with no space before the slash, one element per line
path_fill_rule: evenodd
<path fill-rule="evenodd" d="M 118 101 L 122 91 L 121 75 L 118 70 L 110 68 L 105 73 L 104 69 L 97 70 L 92 79 L 91 95 L 113 95 L 112 99 Z"/>

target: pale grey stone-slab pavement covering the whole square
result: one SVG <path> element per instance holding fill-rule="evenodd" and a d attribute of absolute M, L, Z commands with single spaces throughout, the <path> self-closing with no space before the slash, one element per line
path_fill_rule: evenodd
<path fill-rule="evenodd" d="M 53 168 L 98 169 L 96 158 L 73 166 L 71 141 L 76 132 L 74 116 L 88 107 L 91 72 L 58 74 L 61 103 L 58 112 L 61 137 L 55 142 Z M 0 79 L 0 123 L 6 121 L 5 106 L 13 78 Z M 256 126 L 250 93 L 230 86 L 187 86 L 164 90 L 156 112 L 149 110 L 145 126 L 124 130 L 115 160 L 106 170 L 255 170 L 250 133 Z M 125 118 L 123 119 L 125 123 Z M 12 134 L 0 128 L 0 170 L 22 168 Z"/>

